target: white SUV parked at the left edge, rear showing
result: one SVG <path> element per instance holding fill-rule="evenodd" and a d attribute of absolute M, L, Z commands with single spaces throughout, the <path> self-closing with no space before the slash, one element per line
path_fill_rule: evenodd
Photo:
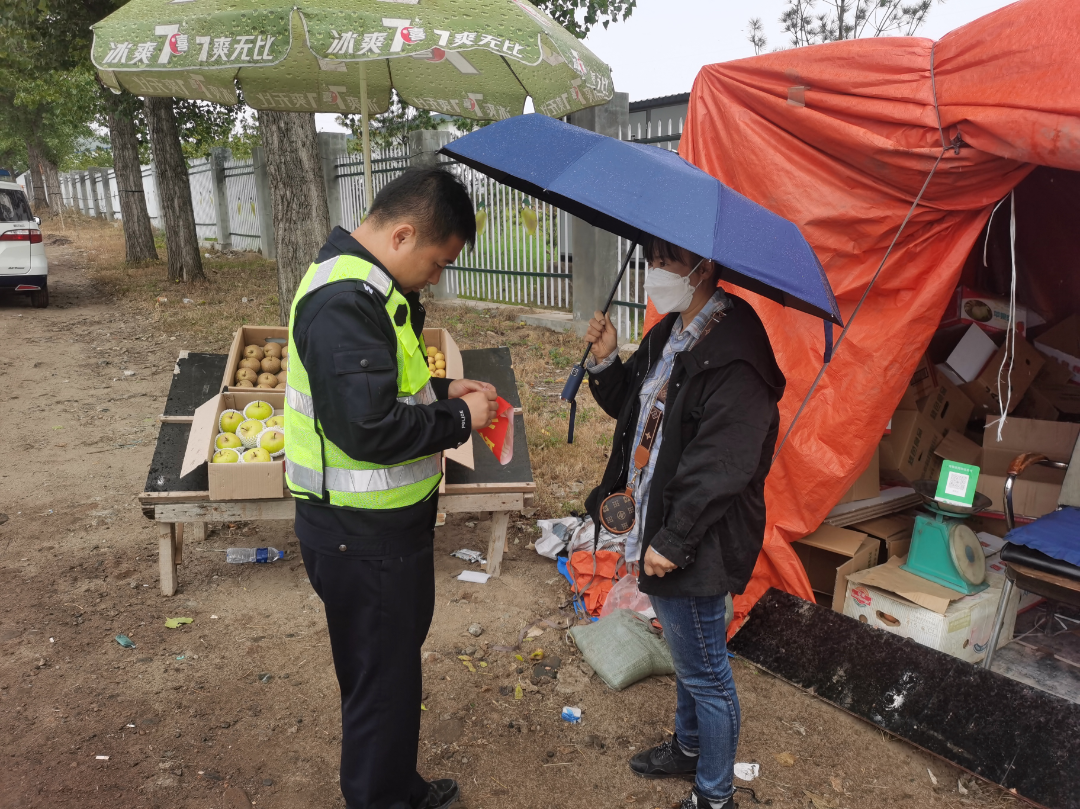
<path fill-rule="evenodd" d="M 41 220 L 17 183 L 0 181 L 0 292 L 29 293 L 31 306 L 49 306 L 49 262 Z"/>

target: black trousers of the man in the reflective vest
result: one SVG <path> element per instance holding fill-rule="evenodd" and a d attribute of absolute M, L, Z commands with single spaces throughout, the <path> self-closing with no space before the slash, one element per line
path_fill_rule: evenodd
<path fill-rule="evenodd" d="M 382 545 L 383 543 L 373 543 Z M 349 809 L 416 809 L 420 647 L 435 609 L 430 538 L 406 555 L 335 554 L 301 542 L 308 578 L 326 607 L 341 687 L 341 794 Z M 319 548 L 320 550 L 315 550 Z M 326 550 L 322 550 L 326 549 Z"/>

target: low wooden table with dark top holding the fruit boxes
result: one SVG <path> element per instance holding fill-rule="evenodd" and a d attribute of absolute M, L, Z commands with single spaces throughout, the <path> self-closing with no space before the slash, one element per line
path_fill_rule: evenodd
<path fill-rule="evenodd" d="M 509 349 L 462 351 L 461 358 L 465 376 L 490 381 L 503 399 L 521 407 Z M 180 354 L 161 416 L 146 488 L 139 495 L 143 513 L 159 526 L 158 566 L 161 592 L 165 595 L 176 593 L 177 567 L 184 564 L 185 540 L 204 540 L 206 523 L 293 520 L 296 515 L 296 502 L 289 496 L 272 500 L 211 500 L 205 464 L 180 476 L 192 415 L 195 407 L 217 395 L 225 362 L 225 354 Z M 500 467 L 483 443 L 474 441 L 473 444 L 475 469 L 446 462 L 438 510 L 448 514 L 487 512 L 490 515 L 487 572 L 498 576 L 510 514 L 528 507 L 536 491 L 521 413 L 514 417 L 514 459 L 507 467 Z"/>

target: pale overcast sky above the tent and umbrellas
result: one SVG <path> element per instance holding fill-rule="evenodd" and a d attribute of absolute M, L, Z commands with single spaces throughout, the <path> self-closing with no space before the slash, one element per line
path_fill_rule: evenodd
<path fill-rule="evenodd" d="M 1008 5 L 1011 0 L 947 0 L 935 2 L 918 36 L 940 39 L 954 28 Z M 746 39 L 751 16 L 761 18 L 766 50 L 786 48 L 780 30 L 784 0 L 638 0 L 633 15 L 585 40 L 611 66 L 615 87 L 632 102 L 687 93 L 702 65 L 754 55 Z M 526 106 L 531 111 L 530 105 Z M 333 114 L 320 114 L 319 130 L 340 131 Z"/>

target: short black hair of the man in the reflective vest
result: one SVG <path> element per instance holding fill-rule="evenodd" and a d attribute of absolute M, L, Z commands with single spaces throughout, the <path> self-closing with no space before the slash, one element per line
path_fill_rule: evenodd
<path fill-rule="evenodd" d="M 367 213 L 374 225 L 411 223 L 420 244 L 442 244 L 451 235 L 476 241 L 476 213 L 469 191 L 447 168 L 409 168 L 375 195 Z"/>

